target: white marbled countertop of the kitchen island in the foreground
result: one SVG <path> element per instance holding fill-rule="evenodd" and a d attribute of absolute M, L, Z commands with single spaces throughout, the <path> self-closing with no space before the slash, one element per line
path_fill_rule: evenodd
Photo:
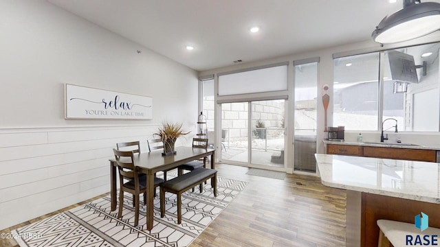
<path fill-rule="evenodd" d="M 315 154 L 323 185 L 440 204 L 440 163 Z"/>

